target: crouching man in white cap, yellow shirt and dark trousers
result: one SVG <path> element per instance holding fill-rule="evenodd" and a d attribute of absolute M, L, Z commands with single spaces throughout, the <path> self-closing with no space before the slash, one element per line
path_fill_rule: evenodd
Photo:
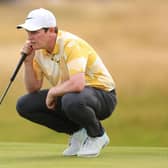
<path fill-rule="evenodd" d="M 70 135 L 64 156 L 95 157 L 109 143 L 101 124 L 116 106 L 115 83 L 96 51 L 78 36 L 58 29 L 52 12 L 30 11 L 17 26 L 28 39 L 21 52 L 27 94 L 18 113 L 54 131 Z M 51 88 L 42 89 L 44 77 Z"/>

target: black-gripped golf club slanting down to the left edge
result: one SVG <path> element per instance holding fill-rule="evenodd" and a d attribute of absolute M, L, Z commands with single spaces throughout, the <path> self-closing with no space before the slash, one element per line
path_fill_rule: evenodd
<path fill-rule="evenodd" d="M 3 92 L 3 94 L 2 94 L 1 97 L 0 97 L 0 104 L 1 104 L 2 101 L 4 100 L 4 98 L 5 98 L 5 96 L 6 96 L 7 92 L 8 92 L 8 90 L 9 90 L 11 84 L 12 84 L 12 82 L 15 80 L 15 77 L 16 77 L 16 75 L 17 75 L 17 73 L 18 73 L 18 71 L 19 71 L 19 69 L 20 69 L 20 67 L 21 67 L 21 65 L 22 65 L 22 63 L 23 63 L 23 61 L 25 60 L 26 56 L 27 56 L 26 53 L 23 53 L 23 52 L 21 53 L 21 58 L 20 58 L 20 60 L 19 60 L 19 62 L 18 62 L 18 64 L 17 64 L 17 67 L 16 67 L 15 71 L 13 72 L 13 74 L 12 74 L 12 76 L 11 76 L 11 78 L 10 78 L 10 82 L 9 82 L 8 86 L 6 87 L 5 91 Z"/>

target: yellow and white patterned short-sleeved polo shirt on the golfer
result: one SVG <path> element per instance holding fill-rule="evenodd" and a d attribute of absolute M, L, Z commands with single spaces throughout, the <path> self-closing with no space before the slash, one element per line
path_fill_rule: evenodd
<path fill-rule="evenodd" d="M 33 62 L 38 80 L 44 76 L 54 86 L 69 76 L 83 72 L 86 85 L 111 91 L 115 88 L 112 76 L 95 50 L 83 39 L 69 32 L 59 31 L 51 54 L 36 52 Z"/>

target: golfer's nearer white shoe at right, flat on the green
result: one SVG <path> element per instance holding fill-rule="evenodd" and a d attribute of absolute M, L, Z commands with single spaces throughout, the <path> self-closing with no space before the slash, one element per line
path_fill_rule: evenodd
<path fill-rule="evenodd" d="M 100 154 L 100 151 L 110 142 L 106 133 L 101 137 L 88 137 L 82 144 L 77 155 L 79 157 L 96 157 Z"/>

